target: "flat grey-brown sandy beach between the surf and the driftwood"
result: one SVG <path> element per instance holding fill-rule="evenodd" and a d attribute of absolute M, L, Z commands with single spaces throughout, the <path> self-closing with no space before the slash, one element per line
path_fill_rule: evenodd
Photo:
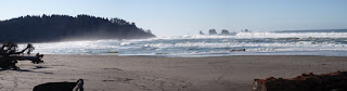
<path fill-rule="evenodd" d="M 347 57 L 154 57 L 44 55 L 44 64 L 20 62 L 0 70 L 1 91 L 31 91 L 44 82 L 85 79 L 86 91 L 252 91 L 256 78 L 347 70 Z"/>

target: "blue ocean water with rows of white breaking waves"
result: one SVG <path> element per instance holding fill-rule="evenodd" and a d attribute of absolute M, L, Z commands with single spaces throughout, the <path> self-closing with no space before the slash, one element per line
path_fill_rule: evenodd
<path fill-rule="evenodd" d="M 25 44 L 20 44 L 24 48 Z M 34 43 L 43 54 L 106 54 L 200 57 L 227 55 L 347 56 L 347 29 L 185 35 L 141 40 Z M 245 51 L 231 51 L 245 49 Z"/>

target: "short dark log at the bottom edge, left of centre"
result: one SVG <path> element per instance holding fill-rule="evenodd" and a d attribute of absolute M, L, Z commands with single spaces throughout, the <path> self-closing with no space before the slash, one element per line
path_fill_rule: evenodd
<path fill-rule="evenodd" d="M 33 91 L 83 91 L 83 79 L 77 82 L 47 82 L 35 86 Z"/>

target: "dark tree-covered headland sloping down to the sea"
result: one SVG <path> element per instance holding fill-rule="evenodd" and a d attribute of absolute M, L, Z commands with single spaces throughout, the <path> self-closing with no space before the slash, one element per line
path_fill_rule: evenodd
<path fill-rule="evenodd" d="M 47 42 L 60 40 L 141 39 L 155 37 L 120 18 L 90 15 L 21 16 L 0 21 L 0 42 Z"/>

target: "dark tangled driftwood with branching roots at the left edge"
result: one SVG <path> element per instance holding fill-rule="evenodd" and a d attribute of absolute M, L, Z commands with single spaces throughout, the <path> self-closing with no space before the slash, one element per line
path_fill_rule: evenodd
<path fill-rule="evenodd" d="M 30 52 L 35 50 L 33 44 L 27 44 L 22 51 L 17 51 L 18 46 L 13 42 L 4 42 L 0 48 L 0 67 L 1 68 L 12 68 L 20 69 L 15 66 L 17 61 L 31 61 L 33 64 L 43 63 L 43 54 L 37 53 L 35 56 L 29 56 Z M 24 55 L 24 52 L 27 52 L 28 56 Z"/>

